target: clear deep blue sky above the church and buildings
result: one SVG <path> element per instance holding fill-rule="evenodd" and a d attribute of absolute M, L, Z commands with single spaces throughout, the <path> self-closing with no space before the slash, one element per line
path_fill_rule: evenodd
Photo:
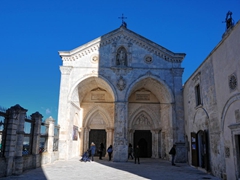
<path fill-rule="evenodd" d="M 16 104 L 57 120 L 62 61 L 72 50 L 120 27 L 186 53 L 183 83 L 220 42 L 226 13 L 240 0 L 0 0 L 0 106 Z"/>

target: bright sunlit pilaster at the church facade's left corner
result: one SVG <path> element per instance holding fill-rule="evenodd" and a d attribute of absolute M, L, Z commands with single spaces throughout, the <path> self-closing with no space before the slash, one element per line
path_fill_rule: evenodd
<path fill-rule="evenodd" d="M 60 66 L 61 83 L 59 92 L 59 107 L 58 107 L 58 124 L 61 129 L 59 132 L 59 159 L 68 159 L 69 147 L 69 129 L 68 129 L 68 93 L 69 93 L 69 78 L 72 67 Z"/>

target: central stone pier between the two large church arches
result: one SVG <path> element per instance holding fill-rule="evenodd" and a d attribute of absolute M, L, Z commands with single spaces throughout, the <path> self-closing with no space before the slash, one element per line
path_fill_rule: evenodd
<path fill-rule="evenodd" d="M 113 161 L 126 162 L 128 160 L 127 117 L 126 102 L 115 103 Z"/>

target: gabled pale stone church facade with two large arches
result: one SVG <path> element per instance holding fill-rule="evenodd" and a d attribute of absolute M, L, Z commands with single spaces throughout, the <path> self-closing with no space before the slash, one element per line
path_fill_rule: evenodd
<path fill-rule="evenodd" d="M 127 161 L 128 144 L 142 157 L 186 162 L 181 63 L 174 53 L 126 28 L 71 51 L 62 59 L 59 156 L 85 152 L 91 142 L 113 145 L 113 161 Z"/>

